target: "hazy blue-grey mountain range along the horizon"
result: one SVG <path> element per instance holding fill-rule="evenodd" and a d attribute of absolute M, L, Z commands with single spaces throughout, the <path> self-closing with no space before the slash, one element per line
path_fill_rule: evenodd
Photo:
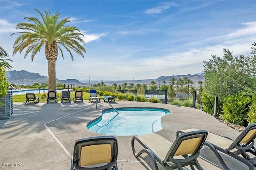
<path fill-rule="evenodd" d="M 125 82 L 127 84 L 134 83 L 134 84 L 150 84 L 152 80 L 156 82 L 156 85 L 161 85 L 163 84 L 162 82 L 165 81 L 166 84 L 170 84 L 170 79 L 172 77 L 175 78 L 184 78 L 188 76 L 194 84 L 191 84 L 192 86 L 198 87 L 199 84 L 197 82 L 199 80 L 204 81 L 203 75 L 201 73 L 199 74 L 187 74 L 187 75 L 173 75 L 173 76 L 160 76 L 159 78 L 153 78 L 153 79 L 143 79 L 143 80 L 104 80 L 107 86 L 112 86 L 112 84 L 117 83 L 117 84 L 124 84 Z M 7 78 L 7 81 L 10 84 L 16 84 L 17 86 L 24 85 L 32 85 L 34 83 L 39 83 L 42 84 L 43 82 L 48 81 L 47 76 L 41 76 L 38 73 L 33 73 L 33 72 L 27 72 L 25 70 L 21 71 L 16 71 L 16 70 L 11 70 L 11 71 L 6 71 L 5 77 Z M 57 83 L 62 83 L 62 84 L 76 84 L 76 86 L 90 86 L 92 84 L 98 84 L 100 80 L 92 80 L 92 81 L 87 81 L 87 82 L 80 82 L 76 79 L 66 79 L 66 80 L 59 80 L 56 78 Z"/>

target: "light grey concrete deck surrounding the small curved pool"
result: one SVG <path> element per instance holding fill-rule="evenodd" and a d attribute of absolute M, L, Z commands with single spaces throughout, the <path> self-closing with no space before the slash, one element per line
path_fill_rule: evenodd
<path fill-rule="evenodd" d="M 170 104 L 116 101 L 114 107 L 160 107 L 169 109 L 170 114 L 162 117 L 163 129 L 156 132 L 170 141 L 175 140 L 176 131 L 196 128 L 235 139 L 240 132 L 220 123 L 204 111 Z M 13 104 L 11 119 L 0 120 L 0 170 L 69 170 L 76 139 L 103 136 L 89 131 L 86 124 L 101 115 L 103 109 L 111 108 L 108 103 L 84 100 L 62 104 L 19 102 Z M 148 156 L 135 158 L 131 149 L 132 136 L 116 136 L 118 140 L 119 170 L 150 170 Z M 139 145 L 138 145 L 139 146 Z M 223 154 L 221 154 L 223 155 Z M 224 161 L 232 170 L 248 169 L 244 164 L 229 156 Z M 222 169 L 208 148 L 200 152 L 199 163 L 205 170 Z M 22 164 L 20 168 L 14 168 Z M 159 165 L 159 164 L 158 164 Z M 10 166 L 10 167 L 8 167 Z M 160 169 L 163 169 L 159 166 Z"/>

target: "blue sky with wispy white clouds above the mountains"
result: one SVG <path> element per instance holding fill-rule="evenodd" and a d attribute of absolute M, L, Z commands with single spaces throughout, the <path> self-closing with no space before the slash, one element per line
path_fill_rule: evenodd
<path fill-rule="evenodd" d="M 31 61 L 12 56 L 15 26 L 50 10 L 70 17 L 85 35 L 84 59 L 65 51 L 56 61 L 64 80 L 142 80 L 203 70 L 211 55 L 250 55 L 256 40 L 256 0 L 0 0 L 0 46 L 13 70 L 48 75 L 44 49 Z M 60 52 L 59 52 L 60 54 Z"/>

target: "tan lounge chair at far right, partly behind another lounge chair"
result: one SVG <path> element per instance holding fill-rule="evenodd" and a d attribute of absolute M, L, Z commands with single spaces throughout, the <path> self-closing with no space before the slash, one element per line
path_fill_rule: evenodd
<path fill-rule="evenodd" d="M 176 135 L 195 130 L 198 129 L 186 129 L 178 131 Z M 254 166 L 256 165 L 256 149 L 254 147 L 255 137 L 256 123 L 248 125 L 234 141 L 227 137 L 222 137 L 220 135 L 208 132 L 204 145 L 209 147 L 214 152 L 225 170 L 230 170 L 230 168 L 228 168 L 218 151 L 243 162 L 246 164 L 246 166 L 248 166 L 249 170 L 254 170 Z"/>

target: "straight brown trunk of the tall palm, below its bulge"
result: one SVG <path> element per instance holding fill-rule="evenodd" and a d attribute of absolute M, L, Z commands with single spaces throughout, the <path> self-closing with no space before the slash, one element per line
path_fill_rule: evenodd
<path fill-rule="evenodd" d="M 56 92 L 56 60 L 48 60 L 48 90 Z"/>

